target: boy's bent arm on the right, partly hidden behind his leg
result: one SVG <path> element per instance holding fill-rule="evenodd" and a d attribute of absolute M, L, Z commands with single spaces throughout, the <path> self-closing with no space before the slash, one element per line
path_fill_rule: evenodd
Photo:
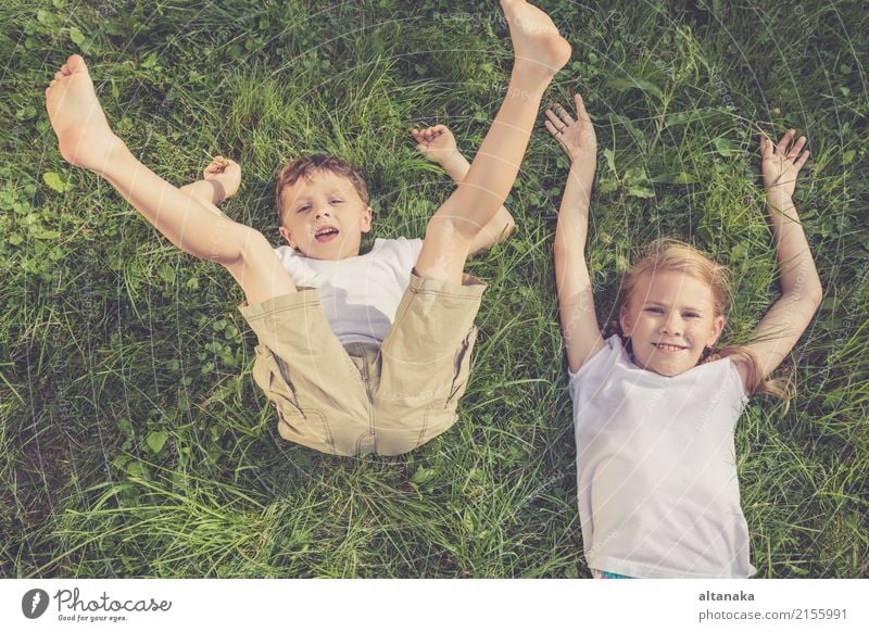
<path fill-rule="evenodd" d="M 455 184 L 465 179 L 470 170 L 470 163 L 458 151 L 455 137 L 445 125 L 434 125 L 425 129 L 412 129 L 416 140 L 416 149 L 428 160 L 438 163 Z M 487 224 L 470 248 L 470 254 L 478 253 L 501 243 L 516 228 L 516 220 L 506 207 L 501 206 L 495 216 Z"/>

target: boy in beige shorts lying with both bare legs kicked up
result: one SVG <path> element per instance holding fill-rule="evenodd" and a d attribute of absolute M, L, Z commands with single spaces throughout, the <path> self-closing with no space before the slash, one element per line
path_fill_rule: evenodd
<path fill-rule="evenodd" d="M 545 13 L 521 0 L 501 4 L 516 61 L 474 163 L 425 240 L 376 242 L 362 256 L 371 210 L 364 181 L 344 161 L 315 156 L 281 170 L 278 211 L 291 249 L 275 256 L 262 233 L 214 206 L 221 178 L 206 174 L 181 191 L 130 154 L 80 56 L 46 90 L 63 157 L 105 178 L 175 245 L 219 263 L 241 286 L 239 308 L 260 341 L 253 377 L 285 439 L 330 454 L 395 455 L 455 421 L 486 287 L 464 275 L 465 261 L 491 244 L 486 227 L 516 178 L 543 90 L 570 56 Z M 419 134 L 420 144 L 434 141 Z M 323 306 L 308 283 L 328 296 Z"/>

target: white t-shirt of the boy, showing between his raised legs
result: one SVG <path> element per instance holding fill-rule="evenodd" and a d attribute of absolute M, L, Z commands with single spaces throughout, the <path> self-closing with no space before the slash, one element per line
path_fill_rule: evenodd
<path fill-rule="evenodd" d="M 411 282 L 421 239 L 375 239 L 363 255 L 322 261 L 289 245 L 274 249 L 297 288 L 316 288 L 326 318 L 341 344 L 381 343 Z"/>

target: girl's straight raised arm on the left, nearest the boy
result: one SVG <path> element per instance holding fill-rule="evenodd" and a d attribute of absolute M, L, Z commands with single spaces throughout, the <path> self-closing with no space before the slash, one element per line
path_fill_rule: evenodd
<path fill-rule="evenodd" d="M 589 206 L 597 160 L 597 138 L 582 97 L 576 94 L 577 119 L 561 105 L 546 110 L 550 130 L 570 157 L 555 228 L 555 283 L 570 370 L 576 372 L 604 345 L 585 263 Z"/>

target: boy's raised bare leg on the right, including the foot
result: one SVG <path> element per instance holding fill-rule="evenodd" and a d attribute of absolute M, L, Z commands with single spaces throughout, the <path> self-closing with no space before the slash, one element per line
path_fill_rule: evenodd
<path fill-rule="evenodd" d="M 467 176 L 428 224 L 416 263 L 420 277 L 462 282 L 474 238 L 516 180 L 543 91 L 570 58 L 570 45 L 543 11 L 522 0 L 501 5 L 516 56 L 507 93 Z"/>

